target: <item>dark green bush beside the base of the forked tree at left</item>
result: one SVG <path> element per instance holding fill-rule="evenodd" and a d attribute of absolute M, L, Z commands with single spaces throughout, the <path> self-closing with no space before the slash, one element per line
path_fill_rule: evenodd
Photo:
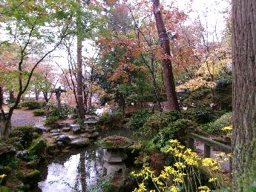
<path fill-rule="evenodd" d="M 12 133 L 10 133 L 10 138 L 16 139 L 21 142 L 24 148 L 28 148 L 33 141 L 33 132 L 35 131 L 32 126 L 16 127 L 13 129 Z"/>

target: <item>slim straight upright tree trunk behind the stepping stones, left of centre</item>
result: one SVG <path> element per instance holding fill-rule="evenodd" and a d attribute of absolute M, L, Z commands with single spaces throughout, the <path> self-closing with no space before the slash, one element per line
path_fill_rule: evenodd
<path fill-rule="evenodd" d="M 80 119 L 85 118 L 85 107 L 83 102 L 83 95 L 82 95 L 82 85 L 83 85 L 83 78 L 82 78 L 82 36 L 81 36 L 81 29 L 80 29 L 81 19 L 77 16 L 76 21 L 76 30 L 77 30 L 77 64 L 76 64 L 76 74 L 77 74 L 77 107 L 79 110 L 79 117 Z"/>

